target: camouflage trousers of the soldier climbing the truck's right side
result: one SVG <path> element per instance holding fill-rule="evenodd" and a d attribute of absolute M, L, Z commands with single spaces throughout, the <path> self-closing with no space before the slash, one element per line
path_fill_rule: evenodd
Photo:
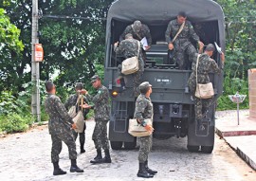
<path fill-rule="evenodd" d="M 205 117 L 206 112 L 210 109 L 210 104 L 212 98 L 210 99 L 198 99 L 194 98 L 194 114 L 197 120 Z"/>

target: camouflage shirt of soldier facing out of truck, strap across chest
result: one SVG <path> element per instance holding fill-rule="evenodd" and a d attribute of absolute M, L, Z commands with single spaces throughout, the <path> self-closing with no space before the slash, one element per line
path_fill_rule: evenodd
<path fill-rule="evenodd" d="M 174 36 L 177 34 L 180 26 L 181 25 L 179 25 L 177 23 L 176 19 L 169 22 L 168 27 L 165 31 L 165 39 L 168 44 L 172 43 L 172 40 L 173 40 Z M 192 40 L 194 40 L 195 42 L 199 41 L 199 37 L 193 30 L 192 23 L 190 21 L 186 20 L 183 30 L 179 33 L 179 35 L 177 36 L 177 38 L 174 42 L 176 42 L 177 40 L 181 40 L 181 39 L 183 39 L 185 41 L 186 40 L 190 41 L 190 38 L 192 38 Z"/>

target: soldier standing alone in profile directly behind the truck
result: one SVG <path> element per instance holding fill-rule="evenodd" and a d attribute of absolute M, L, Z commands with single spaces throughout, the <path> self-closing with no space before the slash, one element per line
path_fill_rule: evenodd
<path fill-rule="evenodd" d="M 136 100 L 135 116 L 137 122 L 140 123 L 147 131 L 153 132 L 152 125 L 147 124 L 144 119 L 153 118 L 153 104 L 150 99 L 152 93 L 152 85 L 148 81 L 144 81 L 139 85 L 140 95 Z M 152 148 L 152 135 L 140 137 L 140 147 L 138 152 L 139 169 L 137 172 L 138 177 L 151 178 L 156 171 L 148 167 L 148 154 Z"/>

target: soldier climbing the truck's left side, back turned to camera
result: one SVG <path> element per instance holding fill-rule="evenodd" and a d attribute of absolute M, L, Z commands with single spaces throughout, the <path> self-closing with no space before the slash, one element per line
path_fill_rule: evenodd
<path fill-rule="evenodd" d="M 137 49 L 138 49 L 137 45 L 140 45 L 140 48 L 138 53 L 138 70 L 136 73 L 134 73 L 134 81 L 133 81 L 135 96 L 139 94 L 137 87 L 141 82 L 142 75 L 144 72 L 144 62 L 142 60 L 141 44 L 140 42 L 138 42 L 136 39 L 133 38 L 132 34 L 128 33 L 127 35 L 125 35 L 125 40 L 121 41 L 120 44 L 117 42 L 114 45 L 114 51 L 117 53 L 117 55 L 123 56 L 125 59 L 137 56 Z M 119 77 L 121 82 L 121 88 L 125 89 L 125 83 L 122 78 L 122 75 L 120 75 Z"/>

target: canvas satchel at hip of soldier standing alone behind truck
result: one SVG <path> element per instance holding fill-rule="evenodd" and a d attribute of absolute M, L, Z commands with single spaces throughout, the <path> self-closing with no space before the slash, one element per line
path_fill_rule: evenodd
<path fill-rule="evenodd" d="M 152 125 L 152 119 L 147 118 L 145 119 L 147 124 Z M 130 118 L 129 119 L 129 129 L 128 133 L 132 136 L 150 136 L 152 135 L 151 132 L 148 132 L 145 127 L 141 126 L 139 123 L 137 123 L 137 118 Z"/>

